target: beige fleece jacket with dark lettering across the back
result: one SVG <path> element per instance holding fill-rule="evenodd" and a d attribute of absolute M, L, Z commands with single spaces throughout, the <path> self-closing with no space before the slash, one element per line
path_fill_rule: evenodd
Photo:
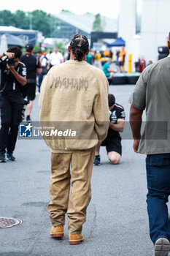
<path fill-rule="evenodd" d="M 69 60 L 52 67 L 39 97 L 41 127 L 52 152 L 93 148 L 107 137 L 108 81 L 101 69 L 86 61 Z M 43 130 L 43 128 L 42 128 Z"/>

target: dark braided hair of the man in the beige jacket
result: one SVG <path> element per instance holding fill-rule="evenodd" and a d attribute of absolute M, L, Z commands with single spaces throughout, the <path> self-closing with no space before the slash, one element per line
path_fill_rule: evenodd
<path fill-rule="evenodd" d="M 77 61 L 82 61 L 89 48 L 88 38 L 82 34 L 76 34 L 70 42 L 72 53 L 76 56 Z"/>

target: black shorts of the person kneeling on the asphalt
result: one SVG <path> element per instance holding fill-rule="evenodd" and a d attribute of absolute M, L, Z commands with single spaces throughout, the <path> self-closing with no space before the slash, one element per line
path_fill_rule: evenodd
<path fill-rule="evenodd" d="M 107 138 L 102 141 L 101 146 L 106 146 L 107 153 L 115 151 L 120 154 L 120 156 L 122 155 L 121 138 L 109 138 L 107 135 Z"/>

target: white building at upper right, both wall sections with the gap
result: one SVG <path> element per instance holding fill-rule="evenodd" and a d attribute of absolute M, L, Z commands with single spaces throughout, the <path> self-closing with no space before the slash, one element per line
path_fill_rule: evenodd
<path fill-rule="evenodd" d="M 143 56 L 148 62 L 158 60 L 158 46 L 165 46 L 170 31 L 169 0 L 142 0 L 141 33 L 136 35 L 136 0 L 120 0 L 118 35 L 126 42 L 127 56 L 125 69 L 128 69 L 128 53 L 134 62 Z"/>

